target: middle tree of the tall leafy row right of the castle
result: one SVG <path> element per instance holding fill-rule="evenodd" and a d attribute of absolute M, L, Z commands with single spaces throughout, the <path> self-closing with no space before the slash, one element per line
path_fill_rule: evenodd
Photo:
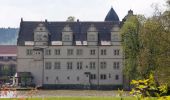
<path fill-rule="evenodd" d="M 160 32 L 162 31 L 161 24 L 153 19 L 148 19 L 140 33 L 140 53 L 139 66 L 141 76 L 145 78 L 157 68 L 157 56 L 160 47 Z"/>

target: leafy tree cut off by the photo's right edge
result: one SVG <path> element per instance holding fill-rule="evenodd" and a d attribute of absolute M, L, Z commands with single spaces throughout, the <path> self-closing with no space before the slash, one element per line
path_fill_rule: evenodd
<path fill-rule="evenodd" d="M 170 87 L 170 11 L 165 11 L 159 19 L 162 26 L 160 46 L 157 54 L 158 68 L 155 75 L 160 83 L 168 83 Z"/>

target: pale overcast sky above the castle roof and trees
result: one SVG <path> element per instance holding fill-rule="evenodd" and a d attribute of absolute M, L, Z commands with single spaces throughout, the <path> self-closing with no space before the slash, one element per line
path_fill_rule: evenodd
<path fill-rule="evenodd" d="M 111 7 L 119 19 L 132 9 L 149 17 L 157 4 L 165 9 L 166 0 L 0 0 L 0 27 L 19 27 L 24 21 L 66 21 L 74 16 L 80 21 L 104 21 Z"/>

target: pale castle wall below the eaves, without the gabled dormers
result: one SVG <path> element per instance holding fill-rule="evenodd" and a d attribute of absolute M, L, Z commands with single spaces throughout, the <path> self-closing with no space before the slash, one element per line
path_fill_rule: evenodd
<path fill-rule="evenodd" d="M 31 72 L 36 85 L 43 84 L 94 84 L 94 85 L 122 85 L 122 47 L 121 46 L 49 46 L 44 50 L 50 50 L 50 54 L 45 52 L 41 60 L 35 60 L 34 55 L 27 55 L 26 51 L 33 49 L 31 46 L 18 46 L 18 72 Z M 68 50 L 73 50 L 69 55 Z M 55 50 L 60 50 L 60 54 L 55 54 Z M 77 51 L 82 50 L 82 54 L 77 55 Z M 95 54 L 91 54 L 95 50 Z M 106 50 L 106 54 L 101 54 Z M 115 50 L 119 51 L 115 55 Z M 41 53 L 40 53 L 41 55 Z M 82 63 L 82 68 L 78 68 Z M 95 63 L 91 68 L 90 63 Z M 103 62 L 105 64 L 103 64 Z M 50 63 L 50 68 L 47 68 Z M 60 63 L 60 68 L 55 68 L 55 63 Z M 72 63 L 72 68 L 68 69 L 68 63 Z M 116 64 L 115 64 L 116 63 Z M 118 63 L 118 64 L 117 64 Z M 85 72 L 95 74 L 96 78 L 91 79 Z M 101 75 L 106 78 L 101 79 Z M 69 78 L 68 78 L 69 77 Z M 116 77 L 118 77 L 116 79 Z"/>

